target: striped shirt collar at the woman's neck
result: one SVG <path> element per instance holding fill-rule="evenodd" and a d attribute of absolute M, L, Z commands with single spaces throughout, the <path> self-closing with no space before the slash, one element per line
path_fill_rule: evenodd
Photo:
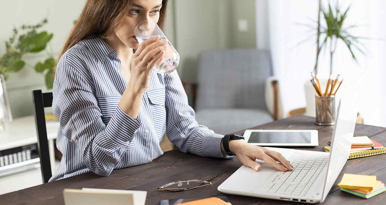
<path fill-rule="evenodd" d="M 90 45 L 91 53 L 93 53 L 102 63 L 110 53 L 115 55 L 115 57 L 118 57 L 118 53 L 98 35 L 90 34 L 85 37 L 85 41 Z"/>

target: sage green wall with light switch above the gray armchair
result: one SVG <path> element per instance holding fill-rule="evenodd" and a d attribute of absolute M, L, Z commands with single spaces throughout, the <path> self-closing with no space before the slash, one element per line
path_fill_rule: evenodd
<path fill-rule="evenodd" d="M 256 48 L 255 0 L 174 1 L 175 42 L 182 80 L 196 80 L 197 56 L 203 50 Z M 247 32 L 238 30 L 245 19 Z"/>

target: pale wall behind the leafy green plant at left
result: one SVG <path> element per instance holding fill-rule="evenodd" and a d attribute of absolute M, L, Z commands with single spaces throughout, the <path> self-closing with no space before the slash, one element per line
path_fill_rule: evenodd
<path fill-rule="evenodd" d="M 3 42 L 8 40 L 15 25 L 34 25 L 43 18 L 48 18 L 48 23 L 40 30 L 54 33 L 50 41 L 54 57 L 56 58 L 63 46 L 73 21 L 78 17 L 83 8 L 84 0 L 13 0 L 2 1 L 0 7 L 0 55 L 5 52 Z M 7 90 L 10 98 L 12 117 L 32 115 L 32 90 L 46 90 L 43 75 L 36 73 L 33 69 L 39 60 L 48 57 L 46 52 L 25 55 L 23 58 L 27 65 L 18 73 L 12 73 L 7 80 Z"/>

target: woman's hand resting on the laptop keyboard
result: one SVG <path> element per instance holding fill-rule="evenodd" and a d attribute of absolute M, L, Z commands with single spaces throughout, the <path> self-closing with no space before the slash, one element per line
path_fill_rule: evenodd
<path fill-rule="evenodd" d="M 230 140 L 229 149 L 237 155 L 237 158 L 245 166 L 259 171 L 261 165 L 256 162 L 256 159 L 272 165 L 282 172 L 292 171 L 293 166 L 279 152 L 269 150 L 264 147 L 250 145 L 245 140 Z M 276 162 L 277 161 L 277 162 Z M 280 163 L 278 163 L 280 162 Z"/>

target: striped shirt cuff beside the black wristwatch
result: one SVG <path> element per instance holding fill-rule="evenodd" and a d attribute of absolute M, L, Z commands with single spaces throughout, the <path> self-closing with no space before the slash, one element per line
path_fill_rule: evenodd
<path fill-rule="evenodd" d="M 233 159 L 233 155 L 222 155 L 221 152 L 221 139 L 224 135 L 210 133 L 204 137 L 202 141 L 202 150 L 207 157 L 228 158 Z"/>

